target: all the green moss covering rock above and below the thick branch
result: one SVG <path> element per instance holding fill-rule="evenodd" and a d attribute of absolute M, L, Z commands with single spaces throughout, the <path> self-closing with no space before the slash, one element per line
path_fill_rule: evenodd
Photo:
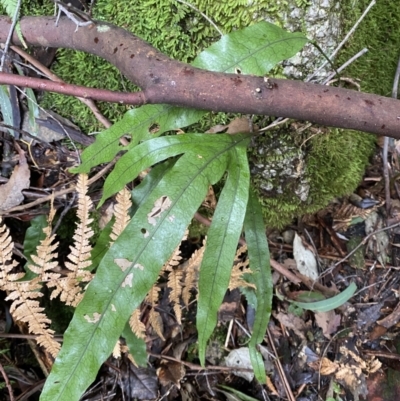
<path fill-rule="evenodd" d="M 29 3 L 28 10 L 24 10 L 25 15 L 40 13 L 44 10 L 43 4 L 49 7 L 45 2 Z M 287 3 L 282 1 L 278 5 L 271 0 L 192 0 L 192 4 L 209 15 L 223 32 L 248 26 L 263 15 L 275 16 L 279 20 Z M 341 3 L 343 36 L 368 3 L 369 0 L 346 0 Z M 306 7 L 307 2 L 301 6 Z M 340 54 L 338 65 L 361 48 L 369 48 L 369 53 L 345 72 L 346 76 L 361 79 L 363 91 L 390 95 L 400 48 L 399 8 L 396 1 L 380 0 Z M 49 14 L 51 11 L 47 9 L 42 13 Z M 198 52 L 219 38 L 218 32 L 196 11 L 171 0 L 97 0 L 93 13 L 94 18 L 122 26 L 149 41 L 160 51 L 185 62 L 192 61 Z M 111 90 L 135 89 L 110 64 L 98 57 L 72 50 L 58 51 L 54 71 L 67 82 L 79 85 Z M 102 128 L 90 111 L 72 97 L 46 94 L 42 105 L 62 112 L 85 132 Z M 127 110 L 127 106 L 120 105 L 100 103 L 99 107 L 111 121 L 120 119 Z M 231 117 L 223 113 L 210 113 L 194 129 L 199 131 L 215 123 L 226 123 Z M 274 197 L 262 196 L 267 225 L 282 226 L 297 215 L 318 210 L 335 196 L 351 192 L 368 163 L 373 142 L 371 136 L 339 130 L 331 130 L 310 139 L 306 157 L 309 196 L 304 202 L 290 191 Z M 258 184 L 256 178 L 253 183 Z"/>

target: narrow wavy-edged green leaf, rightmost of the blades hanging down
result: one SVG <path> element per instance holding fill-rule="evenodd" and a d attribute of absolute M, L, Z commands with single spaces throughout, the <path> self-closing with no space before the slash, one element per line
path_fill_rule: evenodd
<path fill-rule="evenodd" d="M 250 190 L 249 202 L 247 204 L 244 232 L 250 269 L 253 273 L 250 275 L 250 278 L 257 287 L 256 316 L 249 343 L 250 359 L 256 379 L 260 383 L 265 383 L 266 375 L 264 362 L 256 347 L 264 339 L 271 316 L 273 286 L 268 241 L 265 235 L 261 205 L 256 194 L 252 190 Z"/>

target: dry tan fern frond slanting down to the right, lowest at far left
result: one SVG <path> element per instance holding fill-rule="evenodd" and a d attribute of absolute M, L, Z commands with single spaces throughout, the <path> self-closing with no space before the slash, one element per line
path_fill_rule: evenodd
<path fill-rule="evenodd" d="M 9 288 L 11 285 L 9 285 Z M 54 331 L 48 328 L 51 320 L 43 312 L 36 298 L 42 297 L 40 277 L 31 281 L 12 283 L 11 293 L 6 300 L 14 301 L 10 308 L 12 316 L 21 322 L 28 323 L 29 332 L 36 334 L 36 341 L 45 347 L 55 358 L 60 350 L 60 344 L 54 340 Z"/>

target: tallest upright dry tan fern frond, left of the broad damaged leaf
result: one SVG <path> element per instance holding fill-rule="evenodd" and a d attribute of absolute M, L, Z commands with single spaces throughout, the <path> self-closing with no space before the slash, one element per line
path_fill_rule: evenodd
<path fill-rule="evenodd" d="M 79 174 L 76 185 L 78 192 L 78 223 L 73 236 L 74 245 L 70 247 L 71 253 L 68 255 L 69 262 L 65 266 L 71 270 L 66 277 L 48 282 L 48 287 L 55 287 L 51 293 L 51 299 L 60 295 L 62 302 L 67 305 L 77 306 L 83 298 L 83 290 L 80 286 L 82 282 L 89 282 L 92 274 L 85 270 L 91 265 L 90 252 L 92 247 L 89 239 L 93 235 L 90 224 L 93 219 L 89 218 L 89 211 L 93 206 L 92 200 L 87 196 L 88 176 Z"/>

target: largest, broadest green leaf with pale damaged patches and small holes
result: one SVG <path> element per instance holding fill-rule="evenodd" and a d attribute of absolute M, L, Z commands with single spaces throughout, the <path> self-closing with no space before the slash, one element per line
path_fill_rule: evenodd
<path fill-rule="evenodd" d="M 209 185 L 226 171 L 237 138 L 226 135 L 215 140 L 218 148 L 187 152 L 176 162 L 105 254 L 65 332 L 42 401 L 78 401 L 95 379 L 132 311 L 180 243 Z M 153 214 L 160 199 L 168 202 Z"/>

